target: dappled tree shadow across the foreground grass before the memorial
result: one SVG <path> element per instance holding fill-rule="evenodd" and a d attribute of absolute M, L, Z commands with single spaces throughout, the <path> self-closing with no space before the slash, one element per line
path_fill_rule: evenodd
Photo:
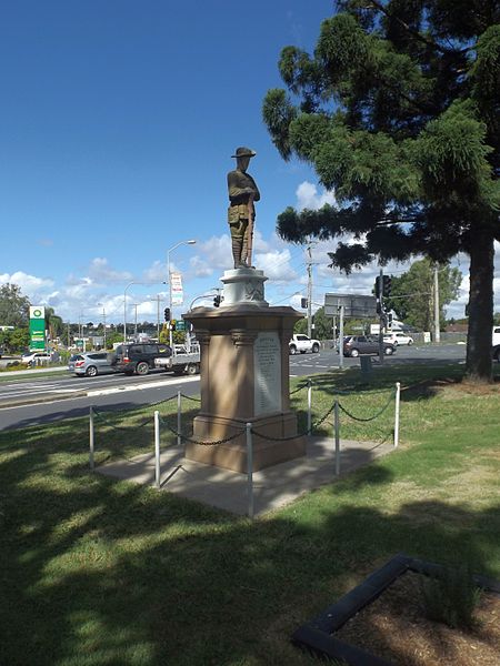
<path fill-rule="evenodd" d="M 500 506 L 357 506 L 377 463 L 252 524 L 90 475 L 77 426 L 0 435 L 1 664 L 309 664 L 293 629 L 388 556 L 498 566 Z"/>

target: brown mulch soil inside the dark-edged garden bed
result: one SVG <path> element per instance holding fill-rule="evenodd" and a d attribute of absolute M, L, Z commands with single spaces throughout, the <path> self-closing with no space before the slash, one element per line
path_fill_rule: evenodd
<path fill-rule="evenodd" d="M 421 576 L 407 573 L 334 636 L 394 666 L 498 666 L 500 597 L 482 593 L 476 618 L 468 632 L 427 619 Z"/>

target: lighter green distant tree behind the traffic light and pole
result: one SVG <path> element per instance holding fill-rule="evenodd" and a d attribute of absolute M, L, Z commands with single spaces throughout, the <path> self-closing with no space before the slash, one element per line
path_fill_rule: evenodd
<path fill-rule="evenodd" d="M 444 324 L 446 306 L 459 295 L 462 274 L 449 264 L 439 268 L 440 322 Z M 391 276 L 391 295 L 383 299 L 384 306 L 393 310 L 398 320 L 420 331 L 431 331 L 434 321 L 433 268 L 424 259 L 411 264 L 402 275 Z"/>

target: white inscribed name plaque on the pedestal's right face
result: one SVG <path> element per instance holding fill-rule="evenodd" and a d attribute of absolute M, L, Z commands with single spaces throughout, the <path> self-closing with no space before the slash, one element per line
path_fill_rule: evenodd
<path fill-rule="evenodd" d="M 259 333 L 253 343 L 254 414 L 281 412 L 281 343 L 278 333 Z"/>

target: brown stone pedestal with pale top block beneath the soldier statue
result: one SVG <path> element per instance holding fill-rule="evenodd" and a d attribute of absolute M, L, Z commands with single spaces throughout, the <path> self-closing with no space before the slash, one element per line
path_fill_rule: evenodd
<path fill-rule="evenodd" d="M 301 315 L 292 307 L 270 307 L 263 300 L 262 271 L 226 271 L 224 300 L 219 309 L 196 307 L 184 315 L 201 346 L 201 408 L 193 438 L 216 446 L 188 443 L 189 460 L 247 472 L 244 426 L 252 424 L 253 470 L 306 454 L 290 411 L 288 343 Z"/>

